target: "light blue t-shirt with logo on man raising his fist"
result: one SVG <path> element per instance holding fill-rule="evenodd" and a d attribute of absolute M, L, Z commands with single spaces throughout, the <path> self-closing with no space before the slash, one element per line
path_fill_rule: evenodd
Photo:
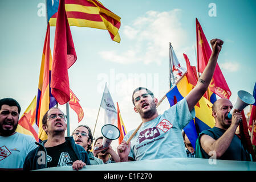
<path fill-rule="evenodd" d="M 157 118 L 141 125 L 131 139 L 129 157 L 135 160 L 186 158 L 182 129 L 196 116 L 190 112 L 186 98 L 164 111 Z M 133 134 L 129 131 L 124 140 Z"/>

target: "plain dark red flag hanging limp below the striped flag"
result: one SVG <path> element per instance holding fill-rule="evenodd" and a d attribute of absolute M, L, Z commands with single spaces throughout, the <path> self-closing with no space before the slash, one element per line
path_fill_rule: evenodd
<path fill-rule="evenodd" d="M 51 93 L 59 104 L 70 100 L 70 82 L 68 68 L 76 61 L 76 52 L 64 1 L 60 0 L 54 40 L 54 56 L 51 72 Z"/>

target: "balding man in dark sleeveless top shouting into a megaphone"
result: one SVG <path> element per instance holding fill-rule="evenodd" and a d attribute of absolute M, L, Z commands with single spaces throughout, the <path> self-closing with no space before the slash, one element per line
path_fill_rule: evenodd
<path fill-rule="evenodd" d="M 216 123 L 212 129 L 200 133 L 196 142 L 197 158 L 208 159 L 213 156 L 223 160 L 251 160 L 249 152 L 235 134 L 239 120 L 242 119 L 241 111 L 234 109 L 232 118 L 227 117 L 232 107 L 226 98 L 214 102 L 212 115 Z"/>

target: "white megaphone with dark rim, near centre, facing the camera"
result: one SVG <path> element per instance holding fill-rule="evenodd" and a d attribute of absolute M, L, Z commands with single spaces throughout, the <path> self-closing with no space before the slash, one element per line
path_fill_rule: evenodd
<path fill-rule="evenodd" d="M 111 125 L 111 124 L 104 125 L 101 128 L 101 133 L 103 135 L 103 141 L 102 141 L 103 147 L 101 147 L 101 148 L 109 147 L 112 140 L 115 140 L 120 137 L 120 131 L 119 131 L 118 127 L 116 127 L 115 125 Z M 95 147 L 94 150 L 100 150 L 100 148 Z M 104 153 L 104 151 L 103 151 L 103 153 Z"/>

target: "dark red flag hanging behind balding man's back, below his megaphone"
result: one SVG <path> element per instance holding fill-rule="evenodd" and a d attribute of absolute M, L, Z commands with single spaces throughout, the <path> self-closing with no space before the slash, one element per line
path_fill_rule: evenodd
<path fill-rule="evenodd" d="M 239 134 L 241 136 L 241 140 L 243 144 L 246 146 L 247 151 L 250 152 L 253 158 L 253 161 L 256 162 L 256 156 L 254 154 L 253 145 L 251 144 L 248 127 L 247 127 L 247 121 L 246 121 L 245 113 L 243 112 L 243 110 L 241 111 L 241 114 L 243 117 L 243 122 L 239 123 Z"/>

